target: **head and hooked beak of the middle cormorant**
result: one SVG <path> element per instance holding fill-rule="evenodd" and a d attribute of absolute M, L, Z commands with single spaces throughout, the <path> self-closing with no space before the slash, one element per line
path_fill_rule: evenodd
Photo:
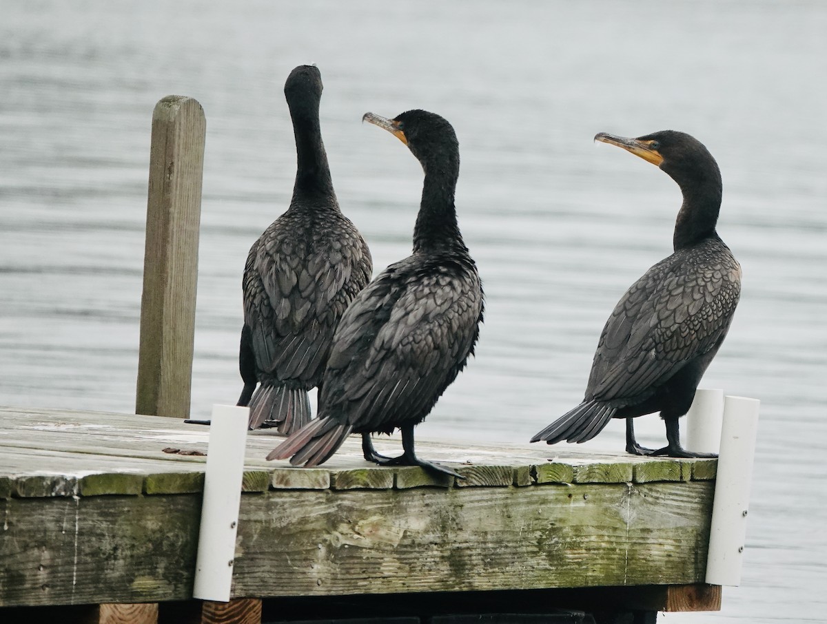
<path fill-rule="evenodd" d="M 453 127 L 443 117 L 428 111 L 406 111 L 393 119 L 386 119 L 372 112 L 366 112 L 362 121 L 385 128 L 422 163 L 428 173 L 429 162 L 455 162 L 459 168 L 459 141 Z"/>

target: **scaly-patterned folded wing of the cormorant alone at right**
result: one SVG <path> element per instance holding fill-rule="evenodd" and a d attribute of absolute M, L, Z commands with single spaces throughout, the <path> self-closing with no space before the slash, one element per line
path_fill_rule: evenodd
<path fill-rule="evenodd" d="M 734 258 L 674 254 L 655 264 L 614 307 L 600 335 L 586 400 L 651 394 L 729 331 L 740 294 Z"/>

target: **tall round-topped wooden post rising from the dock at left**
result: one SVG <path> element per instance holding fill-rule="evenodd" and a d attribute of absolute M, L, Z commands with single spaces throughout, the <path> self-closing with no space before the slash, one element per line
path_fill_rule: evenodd
<path fill-rule="evenodd" d="M 192 386 L 206 120 L 170 95 L 152 114 L 135 411 L 186 418 Z"/>

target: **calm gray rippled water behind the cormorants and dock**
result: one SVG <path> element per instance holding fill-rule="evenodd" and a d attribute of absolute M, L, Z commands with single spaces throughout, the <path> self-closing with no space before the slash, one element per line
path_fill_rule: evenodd
<path fill-rule="evenodd" d="M 294 176 L 282 87 L 316 63 L 342 208 L 409 254 L 421 169 L 366 111 L 457 129 L 478 356 L 418 435 L 526 441 L 582 397 L 614 302 L 671 252 L 672 180 L 597 131 L 673 128 L 724 174 L 743 298 L 703 387 L 759 398 L 739 588 L 665 622 L 825 622 L 827 5 L 0 0 L 0 403 L 134 408 L 151 112 L 208 118 L 193 412 L 232 403 L 246 251 Z M 639 419 L 657 444 L 657 417 Z M 594 443 L 622 448 L 622 423 Z"/>

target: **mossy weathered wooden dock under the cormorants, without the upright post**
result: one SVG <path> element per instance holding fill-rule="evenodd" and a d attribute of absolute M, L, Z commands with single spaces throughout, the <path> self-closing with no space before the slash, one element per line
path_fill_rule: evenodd
<path fill-rule="evenodd" d="M 423 442 L 466 477 L 434 479 L 367 463 L 357 437 L 318 469 L 267 462 L 275 440 L 247 436 L 234 598 L 566 589 L 583 607 L 599 589 L 719 608 L 703 585 L 716 460 Z M 0 408 L 0 607 L 190 601 L 207 442 L 166 417 Z"/>

